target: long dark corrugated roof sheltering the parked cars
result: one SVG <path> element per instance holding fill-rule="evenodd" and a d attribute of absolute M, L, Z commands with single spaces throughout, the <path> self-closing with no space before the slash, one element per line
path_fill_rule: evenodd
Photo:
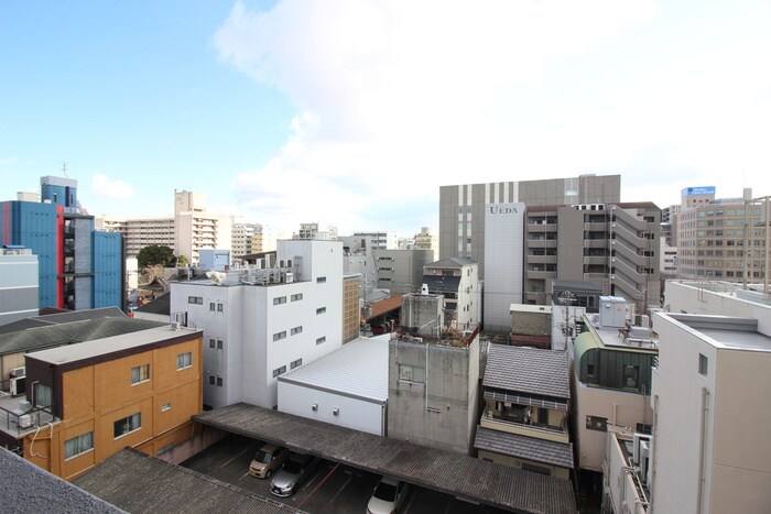
<path fill-rule="evenodd" d="M 511 512 L 576 512 L 569 481 L 486 462 L 465 453 L 427 448 L 243 403 L 205 412 L 194 419 Z"/>

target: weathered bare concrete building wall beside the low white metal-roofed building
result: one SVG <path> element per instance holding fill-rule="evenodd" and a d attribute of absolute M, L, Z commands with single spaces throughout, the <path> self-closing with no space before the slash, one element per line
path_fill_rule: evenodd
<path fill-rule="evenodd" d="M 467 348 L 389 343 L 388 436 L 468 453 L 477 423 L 479 343 Z M 424 378 L 400 380 L 400 365 Z"/>

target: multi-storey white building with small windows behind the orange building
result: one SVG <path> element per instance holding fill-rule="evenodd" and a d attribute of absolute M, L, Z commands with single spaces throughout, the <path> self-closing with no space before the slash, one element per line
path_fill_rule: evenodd
<path fill-rule="evenodd" d="M 279 241 L 275 269 L 172 283 L 172 319 L 204 330 L 206 406 L 272 408 L 280 375 L 341 347 L 341 259 L 337 241 Z"/>

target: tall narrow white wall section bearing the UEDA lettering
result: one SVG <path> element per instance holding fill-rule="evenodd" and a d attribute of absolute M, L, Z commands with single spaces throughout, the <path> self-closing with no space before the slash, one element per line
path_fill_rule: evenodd
<path fill-rule="evenodd" d="M 485 330 L 508 333 L 523 291 L 524 204 L 485 208 Z"/>

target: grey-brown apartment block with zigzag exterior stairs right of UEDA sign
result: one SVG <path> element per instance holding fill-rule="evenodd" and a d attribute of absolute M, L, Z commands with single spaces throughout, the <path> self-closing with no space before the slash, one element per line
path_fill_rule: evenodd
<path fill-rule="evenodd" d="M 564 280 L 591 282 L 641 313 L 658 306 L 660 217 L 651 203 L 529 208 L 523 303 L 549 305 Z"/>

